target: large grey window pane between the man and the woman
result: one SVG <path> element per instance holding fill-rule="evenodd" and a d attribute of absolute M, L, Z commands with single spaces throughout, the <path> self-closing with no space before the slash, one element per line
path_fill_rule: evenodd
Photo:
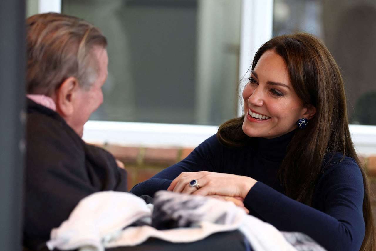
<path fill-rule="evenodd" d="M 218 125 L 237 112 L 240 0 L 62 0 L 108 38 L 91 119 Z"/>

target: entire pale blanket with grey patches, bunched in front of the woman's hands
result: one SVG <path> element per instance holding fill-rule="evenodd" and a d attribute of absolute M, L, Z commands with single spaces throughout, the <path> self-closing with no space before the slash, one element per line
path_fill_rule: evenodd
<path fill-rule="evenodd" d="M 297 250 L 272 225 L 247 215 L 232 202 L 159 191 L 154 203 L 152 210 L 144 200 L 130 193 L 94 193 L 81 200 L 68 220 L 52 230 L 47 246 L 50 250 L 103 251 L 138 245 L 150 237 L 187 243 L 238 229 L 255 251 Z"/>

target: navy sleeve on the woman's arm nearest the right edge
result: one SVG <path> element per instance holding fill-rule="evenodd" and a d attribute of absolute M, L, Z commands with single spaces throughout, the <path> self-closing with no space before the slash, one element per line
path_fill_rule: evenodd
<path fill-rule="evenodd" d="M 244 204 L 280 231 L 308 234 L 331 250 L 359 250 L 365 233 L 363 178 L 356 162 L 345 158 L 327 168 L 317 182 L 314 202 L 322 209 L 290 199 L 257 182 Z"/>

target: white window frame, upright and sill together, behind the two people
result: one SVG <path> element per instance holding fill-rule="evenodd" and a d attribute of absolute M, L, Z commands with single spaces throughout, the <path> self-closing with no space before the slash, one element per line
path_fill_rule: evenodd
<path fill-rule="evenodd" d="M 61 12 L 61 0 L 38 1 L 39 13 Z M 242 0 L 240 78 L 247 72 L 258 47 L 271 38 L 272 28 L 273 0 Z M 241 104 L 238 107 L 241 115 Z M 83 139 L 127 146 L 196 147 L 217 130 L 217 126 L 88 121 Z M 376 153 L 376 126 L 350 125 L 350 132 L 358 153 Z"/>

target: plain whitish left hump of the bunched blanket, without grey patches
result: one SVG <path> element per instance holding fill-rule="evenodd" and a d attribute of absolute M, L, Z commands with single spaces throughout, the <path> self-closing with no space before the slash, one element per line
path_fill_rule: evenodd
<path fill-rule="evenodd" d="M 145 201 L 131 193 L 102 191 L 83 198 L 69 218 L 51 231 L 46 243 L 50 250 L 103 251 L 121 230 L 144 217 L 152 210 Z"/>

